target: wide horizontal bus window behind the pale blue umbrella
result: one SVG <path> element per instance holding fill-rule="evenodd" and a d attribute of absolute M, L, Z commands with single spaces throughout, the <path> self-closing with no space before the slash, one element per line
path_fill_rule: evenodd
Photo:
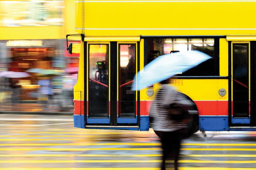
<path fill-rule="evenodd" d="M 152 52 L 159 52 L 159 55 L 170 54 L 172 52 L 186 52 L 191 50 L 201 51 L 212 56 L 212 59 L 199 64 L 190 70 L 180 73 L 178 76 L 218 76 L 218 70 L 215 70 L 214 39 L 148 39 L 148 60 L 151 62 L 154 58 Z"/>

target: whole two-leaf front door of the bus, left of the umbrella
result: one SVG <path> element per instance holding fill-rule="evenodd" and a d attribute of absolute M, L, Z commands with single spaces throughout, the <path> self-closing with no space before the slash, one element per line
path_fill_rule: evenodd
<path fill-rule="evenodd" d="M 87 42 L 87 124 L 137 124 L 137 42 Z"/>

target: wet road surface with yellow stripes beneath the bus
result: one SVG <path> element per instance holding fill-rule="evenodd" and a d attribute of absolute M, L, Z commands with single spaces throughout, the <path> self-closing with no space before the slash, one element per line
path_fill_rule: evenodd
<path fill-rule="evenodd" d="M 183 141 L 180 170 L 256 170 L 256 132 L 206 134 Z M 152 129 L 79 129 L 72 116 L 0 115 L 0 170 L 156 170 L 160 162 Z"/>

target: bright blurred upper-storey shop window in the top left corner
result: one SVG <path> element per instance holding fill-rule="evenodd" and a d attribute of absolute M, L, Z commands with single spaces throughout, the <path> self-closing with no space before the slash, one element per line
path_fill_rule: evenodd
<path fill-rule="evenodd" d="M 0 1 L 0 26 L 60 26 L 63 1 Z"/>

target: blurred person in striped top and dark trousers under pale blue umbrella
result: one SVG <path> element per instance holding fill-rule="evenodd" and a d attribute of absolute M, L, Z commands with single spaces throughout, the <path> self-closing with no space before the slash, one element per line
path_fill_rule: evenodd
<path fill-rule="evenodd" d="M 156 94 L 150 110 L 151 127 L 160 137 L 163 149 L 161 170 L 165 170 L 165 160 L 174 159 L 174 169 L 178 170 L 180 141 L 184 136 L 182 123 L 186 113 L 178 106 L 179 92 L 168 85 L 170 79 L 161 81 L 161 89 Z"/>

